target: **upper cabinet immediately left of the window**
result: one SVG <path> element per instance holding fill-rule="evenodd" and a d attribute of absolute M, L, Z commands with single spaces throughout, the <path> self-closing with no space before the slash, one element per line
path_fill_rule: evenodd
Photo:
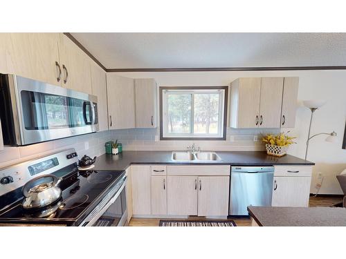
<path fill-rule="evenodd" d="M 136 128 L 156 128 L 156 81 L 135 79 Z"/>

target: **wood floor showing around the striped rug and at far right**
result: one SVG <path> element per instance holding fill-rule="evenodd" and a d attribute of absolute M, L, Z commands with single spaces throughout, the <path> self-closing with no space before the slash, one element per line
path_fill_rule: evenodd
<path fill-rule="evenodd" d="M 342 198 L 338 197 L 311 197 L 309 207 L 330 207 L 333 204 L 342 202 Z M 189 220 L 204 220 L 205 218 L 189 218 Z M 165 218 L 164 220 L 167 220 Z M 179 219 L 181 220 L 181 219 Z M 248 217 L 234 217 L 228 218 L 228 220 L 234 220 L 235 224 L 239 227 L 251 226 L 251 220 Z M 129 227 L 158 227 L 160 218 L 131 218 Z"/>

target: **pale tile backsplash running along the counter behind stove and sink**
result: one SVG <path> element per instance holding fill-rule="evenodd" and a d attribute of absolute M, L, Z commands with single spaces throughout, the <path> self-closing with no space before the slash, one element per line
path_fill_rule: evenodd
<path fill-rule="evenodd" d="M 6 146 L 0 151 L 0 168 L 16 164 L 35 157 L 55 153 L 66 148 L 75 148 L 79 157 L 87 154 L 91 157 L 104 154 L 104 142 L 116 140 L 122 143 L 125 151 L 179 151 L 196 143 L 204 151 L 262 151 L 264 146 L 260 134 L 276 133 L 278 129 L 233 129 L 227 128 L 226 141 L 215 140 L 165 140 L 160 141 L 158 128 L 130 128 L 113 131 L 102 131 L 33 144 L 30 146 Z"/>

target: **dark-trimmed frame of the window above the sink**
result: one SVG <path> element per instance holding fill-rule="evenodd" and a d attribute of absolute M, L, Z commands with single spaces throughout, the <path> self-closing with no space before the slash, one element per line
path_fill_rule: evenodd
<path fill-rule="evenodd" d="M 228 86 L 160 86 L 159 87 L 160 90 L 160 140 L 226 140 L 226 128 L 227 128 L 227 111 L 228 111 Z M 196 137 L 183 137 L 183 136 L 179 136 L 179 137 L 163 137 L 163 90 L 176 90 L 176 92 L 178 93 L 179 90 L 210 90 L 210 91 L 215 91 L 215 90 L 224 90 L 224 119 L 220 120 L 220 124 L 221 122 L 223 122 L 223 126 L 220 127 L 222 128 L 222 137 L 210 137 L 210 135 L 207 135 L 206 137 L 200 137 L 200 136 L 196 136 Z M 193 104 L 194 100 L 192 99 L 192 104 Z M 193 109 L 193 105 L 192 105 L 192 109 Z M 194 117 L 192 117 L 192 124 L 194 123 Z"/>

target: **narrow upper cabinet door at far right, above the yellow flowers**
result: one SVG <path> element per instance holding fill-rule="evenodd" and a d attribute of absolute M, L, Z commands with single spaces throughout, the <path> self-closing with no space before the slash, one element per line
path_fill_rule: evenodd
<path fill-rule="evenodd" d="M 299 77 L 284 78 L 284 93 L 282 95 L 281 127 L 294 128 L 295 112 L 297 110 Z"/>

